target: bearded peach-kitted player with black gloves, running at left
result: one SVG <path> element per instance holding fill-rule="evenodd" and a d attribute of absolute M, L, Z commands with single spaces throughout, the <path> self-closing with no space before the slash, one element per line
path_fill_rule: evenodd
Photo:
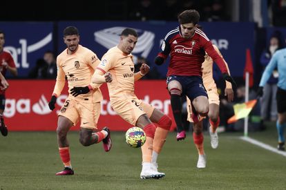
<path fill-rule="evenodd" d="M 107 127 L 97 133 L 93 132 L 97 129 L 102 92 L 99 90 L 99 85 L 91 83 L 91 77 L 100 61 L 95 53 L 79 45 L 79 32 L 74 26 L 64 29 L 64 43 L 67 48 L 57 56 L 57 82 L 48 105 L 50 110 L 55 109 L 57 97 L 61 94 L 67 78 L 69 95 L 59 111 L 57 121 L 57 143 L 64 170 L 56 175 L 73 175 L 67 134 L 79 119 L 79 142 L 82 145 L 90 146 L 102 141 L 104 150 L 110 151 L 112 142 Z"/>

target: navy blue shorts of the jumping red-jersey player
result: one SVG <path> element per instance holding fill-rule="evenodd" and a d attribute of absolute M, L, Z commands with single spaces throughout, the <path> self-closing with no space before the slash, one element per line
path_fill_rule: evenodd
<path fill-rule="evenodd" d="M 182 95 L 187 95 L 191 102 L 200 95 L 208 97 L 207 91 L 202 83 L 202 77 L 171 75 L 167 77 L 166 84 L 169 84 L 169 82 L 173 80 L 180 82 L 182 86 Z"/>

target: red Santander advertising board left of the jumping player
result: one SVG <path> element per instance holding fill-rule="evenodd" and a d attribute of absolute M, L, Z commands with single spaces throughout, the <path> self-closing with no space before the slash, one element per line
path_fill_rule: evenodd
<path fill-rule="evenodd" d="M 55 131 L 57 129 L 57 113 L 68 96 L 67 84 L 57 98 L 54 111 L 48 108 L 55 80 L 10 80 L 6 91 L 6 108 L 4 116 L 10 131 Z M 112 131 L 126 131 L 128 124 L 113 111 L 109 102 L 106 84 L 101 87 L 103 94 L 101 115 L 98 128 L 110 127 Z M 135 93 L 155 108 L 160 109 L 173 118 L 169 93 L 164 80 L 148 80 L 135 82 Z M 174 124 L 172 129 L 174 129 Z M 72 130 L 78 130 L 79 124 Z"/>

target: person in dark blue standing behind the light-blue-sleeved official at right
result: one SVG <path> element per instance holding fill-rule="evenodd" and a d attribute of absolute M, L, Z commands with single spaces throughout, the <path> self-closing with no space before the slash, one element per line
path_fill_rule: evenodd
<path fill-rule="evenodd" d="M 281 33 L 275 31 L 269 39 L 269 45 L 267 49 L 263 51 L 260 56 L 260 64 L 263 66 L 263 70 L 269 64 L 272 55 L 283 48 L 283 40 L 281 39 Z M 278 72 L 277 68 L 274 69 L 271 77 L 268 79 L 264 86 L 264 93 L 260 99 L 261 104 L 261 120 L 265 121 L 270 119 L 276 121 L 277 119 L 277 106 L 276 106 L 276 92 L 277 92 Z"/>

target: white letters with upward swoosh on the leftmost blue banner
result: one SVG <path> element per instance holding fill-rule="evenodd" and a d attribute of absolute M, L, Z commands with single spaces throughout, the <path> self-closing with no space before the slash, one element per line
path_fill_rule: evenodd
<path fill-rule="evenodd" d="M 21 55 L 21 67 L 22 68 L 29 68 L 29 63 L 27 61 L 27 54 L 32 53 L 35 50 L 39 50 L 40 48 L 46 46 L 46 44 L 52 41 L 53 34 L 50 32 L 44 39 L 41 39 L 35 44 L 27 46 L 27 39 L 19 39 L 19 44 L 21 44 L 21 48 L 15 48 L 13 46 L 6 46 L 4 50 L 8 51 L 16 64 L 16 67 L 20 67 L 20 63 L 18 61 L 18 55 Z"/>

